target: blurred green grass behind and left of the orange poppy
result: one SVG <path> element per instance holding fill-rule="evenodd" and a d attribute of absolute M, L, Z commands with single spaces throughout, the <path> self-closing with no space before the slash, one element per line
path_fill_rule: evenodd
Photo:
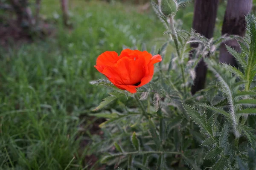
<path fill-rule="evenodd" d="M 58 1 L 42 2 L 47 19 L 61 15 Z M 78 153 L 88 130 L 81 114 L 106 95 L 89 84 L 103 78 L 93 67 L 96 58 L 104 51 L 120 53 L 122 45 L 166 40 L 155 39 L 164 31 L 156 17 L 131 5 L 75 0 L 70 11 L 73 31 L 57 24 L 55 38 L 0 51 L 0 169 L 86 167 Z"/>

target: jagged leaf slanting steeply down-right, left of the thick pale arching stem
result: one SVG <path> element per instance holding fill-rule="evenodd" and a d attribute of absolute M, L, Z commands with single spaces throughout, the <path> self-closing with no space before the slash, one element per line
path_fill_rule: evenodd
<path fill-rule="evenodd" d="M 204 130 L 206 130 L 210 135 L 212 135 L 212 128 L 209 125 L 207 125 L 206 119 L 203 116 L 201 116 L 198 113 L 198 111 L 195 111 L 194 108 L 186 104 L 183 104 L 183 108 L 185 109 L 186 113 L 194 120 L 196 124 L 198 124 Z"/>

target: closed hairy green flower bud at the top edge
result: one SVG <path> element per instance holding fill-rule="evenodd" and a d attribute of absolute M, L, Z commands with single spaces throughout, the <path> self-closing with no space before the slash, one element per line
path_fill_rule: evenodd
<path fill-rule="evenodd" d="M 160 11 L 169 17 L 177 12 L 177 4 L 175 0 L 159 0 Z"/>

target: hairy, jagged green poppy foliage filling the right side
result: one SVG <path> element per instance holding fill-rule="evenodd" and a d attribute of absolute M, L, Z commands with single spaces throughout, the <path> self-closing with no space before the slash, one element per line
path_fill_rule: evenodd
<path fill-rule="evenodd" d="M 152 47 L 151 54 L 167 57 L 169 44 L 176 51 L 169 57 L 171 61 L 155 66 L 154 78 L 139 88 L 137 94 L 119 91 L 136 104 L 135 108 L 126 105 L 118 114 L 110 113 L 113 117 L 102 116 L 107 118 L 103 123 L 107 126 L 102 126 L 102 130 L 111 134 L 105 139 L 119 150 L 104 152 L 103 160 L 108 159 L 105 162 L 118 164 L 117 167 L 143 170 L 254 168 L 255 152 L 248 148 L 255 149 L 256 143 L 255 18 L 247 15 L 245 38 L 222 36 L 208 40 L 194 30 L 172 29 L 172 17 L 165 17 L 156 3 L 151 1 L 151 4 L 169 36 L 162 47 Z M 227 50 L 239 68 L 219 63 L 216 52 L 221 42 L 234 38 L 241 53 L 229 46 Z M 199 43 L 198 48 L 191 48 L 190 44 L 195 42 Z M 145 45 L 142 49 L 146 49 Z M 191 50 L 194 53 L 189 56 Z M 208 55 L 211 57 L 206 58 Z M 201 59 L 207 63 L 210 81 L 204 90 L 192 96 L 194 69 Z M 127 98 L 117 100 L 123 103 Z M 116 145 L 119 142 L 121 151 Z"/>

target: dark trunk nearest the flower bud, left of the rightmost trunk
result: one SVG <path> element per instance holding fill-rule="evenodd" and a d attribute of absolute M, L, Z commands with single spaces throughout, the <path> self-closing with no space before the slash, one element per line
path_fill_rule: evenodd
<path fill-rule="evenodd" d="M 196 32 L 201 33 L 207 38 L 212 38 L 215 27 L 215 20 L 218 9 L 218 0 L 195 0 L 193 28 Z M 192 47 L 197 47 L 198 44 L 192 44 Z M 196 77 L 191 88 L 191 93 L 204 88 L 207 67 L 202 59 L 195 68 Z"/>

